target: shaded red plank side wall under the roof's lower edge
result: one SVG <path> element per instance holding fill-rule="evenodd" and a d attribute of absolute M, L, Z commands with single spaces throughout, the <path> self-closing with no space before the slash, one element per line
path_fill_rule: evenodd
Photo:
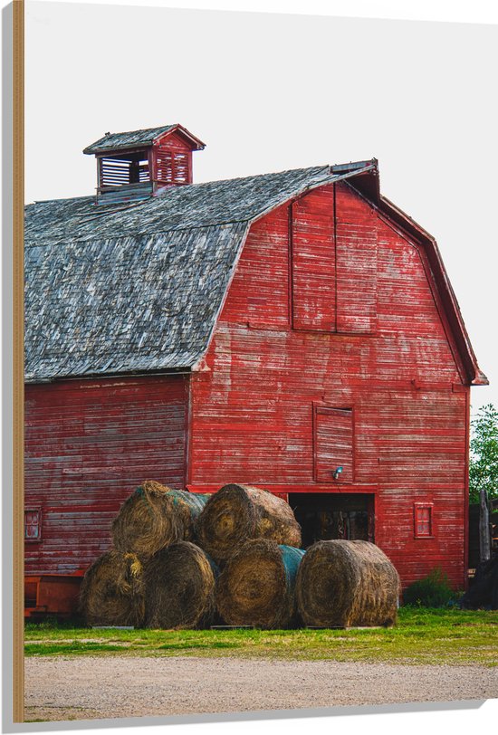
<path fill-rule="evenodd" d="M 110 524 L 140 482 L 185 487 L 184 377 L 26 386 L 25 507 L 42 538 L 26 574 L 73 574 L 110 547 Z"/>

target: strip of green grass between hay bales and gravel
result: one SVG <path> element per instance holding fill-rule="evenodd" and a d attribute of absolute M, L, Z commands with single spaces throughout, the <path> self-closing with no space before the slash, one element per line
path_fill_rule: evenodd
<path fill-rule="evenodd" d="M 394 628 L 356 630 L 98 630 L 25 626 L 25 654 L 243 656 L 498 666 L 498 612 L 402 607 Z"/>

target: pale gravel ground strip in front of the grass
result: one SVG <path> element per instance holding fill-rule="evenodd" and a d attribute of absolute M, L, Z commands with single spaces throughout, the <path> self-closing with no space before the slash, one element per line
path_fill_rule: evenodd
<path fill-rule="evenodd" d="M 91 720 L 498 697 L 498 668 L 193 657 L 25 660 L 25 719 Z"/>

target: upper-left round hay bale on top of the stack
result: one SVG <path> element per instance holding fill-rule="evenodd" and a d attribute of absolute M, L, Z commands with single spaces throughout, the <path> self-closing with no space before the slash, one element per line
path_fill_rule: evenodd
<path fill-rule="evenodd" d="M 172 490 L 146 480 L 126 500 L 112 523 L 114 547 L 150 557 L 176 541 L 193 538 L 207 496 Z"/>

